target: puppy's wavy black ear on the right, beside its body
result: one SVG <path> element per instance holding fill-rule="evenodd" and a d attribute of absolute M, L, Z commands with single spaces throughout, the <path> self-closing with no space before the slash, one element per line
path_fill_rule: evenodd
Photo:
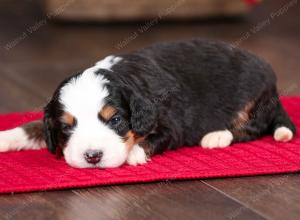
<path fill-rule="evenodd" d="M 130 111 L 131 127 L 136 134 L 145 136 L 155 128 L 157 110 L 151 101 L 132 95 L 130 98 Z"/>

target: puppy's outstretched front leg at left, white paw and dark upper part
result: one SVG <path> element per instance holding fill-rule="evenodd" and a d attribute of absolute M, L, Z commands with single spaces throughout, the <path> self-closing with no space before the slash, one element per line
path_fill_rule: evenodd
<path fill-rule="evenodd" d="M 0 131 L 0 152 L 45 148 L 44 123 L 29 122 L 21 127 Z"/>

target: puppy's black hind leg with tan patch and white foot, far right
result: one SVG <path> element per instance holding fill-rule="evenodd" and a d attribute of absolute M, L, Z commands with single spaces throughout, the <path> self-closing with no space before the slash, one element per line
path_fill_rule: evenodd
<path fill-rule="evenodd" d="M 242 116 L 246 120 L 235 120 L 230 128 L 234 142 L 251 141 L 270 134 L 276 141 L 288 142 L 296 134 L 294 124 L 274 91 L 258 99 L 251 111 L 244 112 Z"/>

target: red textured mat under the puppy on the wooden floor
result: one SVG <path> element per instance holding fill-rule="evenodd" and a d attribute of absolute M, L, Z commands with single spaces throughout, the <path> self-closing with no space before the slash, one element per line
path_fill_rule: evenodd
<path fill-rule="evenodd" d="M 300 130 L 300 97 L 282 98 Z M 0 115 L 0 130 L 40 118 L 41 113 Z M 225 149 L 181 148 L 143 166 L 75 169 L 46 150 L 0 153 L 0 193 L 28 192 L 196 178 L 253 176 L 300 171 L 300 136 L 290 143 L 272 137 Z"/>

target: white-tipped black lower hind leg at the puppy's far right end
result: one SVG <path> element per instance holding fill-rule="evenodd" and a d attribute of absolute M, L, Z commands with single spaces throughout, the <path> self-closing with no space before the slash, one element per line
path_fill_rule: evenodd
<path fill-rule="evenodd" d="M 296 127 L 283 109 L 280 102 L 276 106 L 276 115 L 272 123 L 273 137 L 276 141 L 288 142 L 296 134 Z"/>

